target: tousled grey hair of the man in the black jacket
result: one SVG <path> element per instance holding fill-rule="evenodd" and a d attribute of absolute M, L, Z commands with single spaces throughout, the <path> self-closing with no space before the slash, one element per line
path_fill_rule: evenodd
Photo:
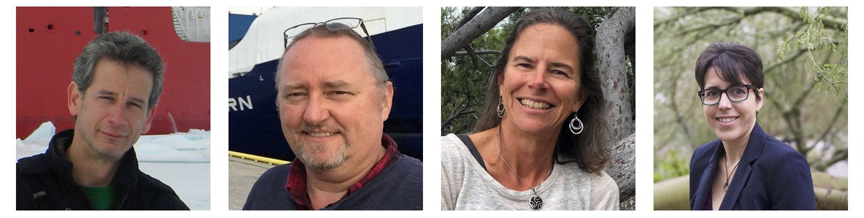
<path fill-rule="evenodd" d="M 150 89 L 147 109 L 156 106 L 159 96 L 162 95 L 162 74 L 165 73 L 165 65 L 156 49 L 150 47 L 141 37 L 127 32 L 96 36 L 75 59 L 72 80 L 78 85 L 79 92 L 85 93 L 87 87 L 90 87 L 96 63 L 102 59 L 134 64 L 152 74 L 153 87 Z"/>

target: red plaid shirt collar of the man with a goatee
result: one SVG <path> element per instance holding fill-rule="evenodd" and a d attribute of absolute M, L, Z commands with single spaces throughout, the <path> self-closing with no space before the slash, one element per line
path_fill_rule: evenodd
<path fill-rule="evenodd" d="M 366 183 L 372 182 L 372 180 L 375 179 L 375 177 L 378 177 L 378 175 L 386 170 L 387 167 L 395 163 L 399 158 L 402 158 L 402 154 L 397 151 L 397 144 L 393 141 L 393 138 L 390 138 L 390 136 L 387 135 L 382 135 L 381 144 L 386 148 L 384 157 L 381 157 L 381 159 L 378 160 L 378 163 L 375 163 L 375 165 L 372 166 L 372 170 L 369 170 L 369 173 L 366 173 L 366 176 L 363 176 L 363 178 L 361 178 L 357 183 L 348 187 L 348 191 L 341 199 L 345 199 L 351 194 L 357 192 L 360 188 L 363 188 Z M 308 189 L 306 187 L 306 165 L 300 162 L 300 159 L 297 159 L 296 157 L 294 158 L 294 162 L 291 162 L 291 171 L 288 174 L 288 183 L 285 183 L 285 190 L 288 191 L 288 195 L 291 196 L 292 200 L 294 200 L 296 210 L 312 209 L 312 200 L 309 199 Z"/>

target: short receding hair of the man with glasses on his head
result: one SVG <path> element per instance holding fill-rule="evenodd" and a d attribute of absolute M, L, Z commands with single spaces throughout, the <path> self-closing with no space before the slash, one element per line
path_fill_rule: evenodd
<path fill-rule="evenodd" d="M 327 29 L 326 26 L 327 25 L 317 25 L 314 28 L 304 30 L 302 33 L 294 37 L 293 42 L 285 47 L 282 57 L 279 58 L 279 65 L 276 67 L 276 75 L 274 76 L 274 81 L 276 81 L 276 90 L 279 89 L 279 80 L 281 78 L 280 71 L 282 70 L 285 54 L 288 53 L 288 50 L 291 49 L 291 47 L 294 47 L 294 43 L 299 42 L 310 35 L 322 38 L 345 36 L 353 39 L 354 42 L 359 43 L 360 47 L 363 48 L 363 53 L 366 55 L 366 67 L 368 67 L 369 72 L 372 73 L 372 77 L 377 81 L 378 87 L 384 89 L 384 84 L 390 80 L 390 77 L 387 76 L 387 72 L 384 71 L 384 64 L 381 62 L 381 59 L 378 58 L 378 53 L 375 52 L 375 47 L 372 46 L 372 43 L 366 41 L 363 36 L 357 34 L 353 29 L 330 30 Z"/>

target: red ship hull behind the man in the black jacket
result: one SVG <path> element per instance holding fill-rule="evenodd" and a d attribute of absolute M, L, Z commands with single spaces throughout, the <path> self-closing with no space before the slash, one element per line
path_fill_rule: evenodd
<path fill-rule="evenodd" d="M 107 11 L 108 31 L 141 36 L 165 62 L 162 98 L 147 133 L 209 130 L 210 43 L 182 41 L 171 8 L 109 7 Z M 98 35 L 94 8 L 22 7 L 16 10 L 16 22 L 16 137 L 27 137 L 46 121 L 58 130 L 73 128 L 67 87 L 73 61 Z"/>

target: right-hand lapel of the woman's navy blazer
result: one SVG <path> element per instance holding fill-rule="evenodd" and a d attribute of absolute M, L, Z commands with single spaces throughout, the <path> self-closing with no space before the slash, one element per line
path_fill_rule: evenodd
<path fill-rule="evenodd" d="M 750 131 L 750 141 L 747 142 L 747 147 L 744 149 L 744 156 L 739 161 L 738 169 L 735 170 L 735 176 L 729 182 L 729 189 L 726 196 L 723 197 L 723 203 L 720 209 L 734 209 L 738 202 L 738 197 L 741 190 L 744 189 L 746 181 L 750 179 L 750 173 L 753 172 L 753 163 L 762 155 L 762 147 L 765 144 L 766 133 L 759 127 L 759 123 L 753 126 L 753 131 Z"/>

